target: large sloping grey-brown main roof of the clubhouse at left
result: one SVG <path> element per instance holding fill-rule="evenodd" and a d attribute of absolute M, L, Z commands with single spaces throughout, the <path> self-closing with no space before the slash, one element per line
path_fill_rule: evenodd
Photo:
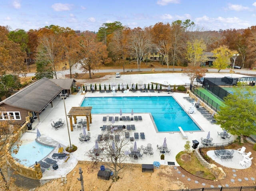
<path fill-rule="evenodd" d="M 0 104 L 41 112 L 61 90 L 61 87 L 44 77 L 1 101 Z"/>

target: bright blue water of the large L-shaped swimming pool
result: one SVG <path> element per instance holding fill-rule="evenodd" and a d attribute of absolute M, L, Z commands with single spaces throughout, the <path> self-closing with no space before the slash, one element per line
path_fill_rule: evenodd
<path fill-rule="evenodd" d="M 84 98 L 81 106 L 92 106 L 95 114 L 151 113 L 159 132 L 198 131 L 200 128 L 172 96 L 152 97 L 93 97 Z M 126 114 L 124 114 L 126 116 Z M 129 115 L 131 116 L 131 115 Z"/>

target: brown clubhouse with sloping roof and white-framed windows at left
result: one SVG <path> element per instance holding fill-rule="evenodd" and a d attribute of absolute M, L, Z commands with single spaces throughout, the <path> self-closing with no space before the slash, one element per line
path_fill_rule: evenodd
<path fill-rule="evenodd" d="M 60 85 L 67 83 L 63 87 L 65 90 L 70 90 L 74 79 L 57 79 L 52 81 L 46 77 L 28 85 L 24 89 L 18 91 L 14 95 L 2 100 L 0 107 L 4 107 L 5 111 L 0 113 L 0 120 L 12 118 L 15 124 L 23 124 L 26 122 L 26 117 L 38 118 L 39 115 L 46 109 L 48 105 L 53 106 L 52 101 L 63 90 Z M 69 86 L 69 87 L 68 87 Z"/>

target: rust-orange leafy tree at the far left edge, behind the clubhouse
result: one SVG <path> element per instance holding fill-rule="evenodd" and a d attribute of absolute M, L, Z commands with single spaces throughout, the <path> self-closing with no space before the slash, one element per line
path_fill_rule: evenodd
<path fill-rule="evenodd" d="M 24 58 L 20 45 L 8 39 L 8 27 L 0 26 L 0 75 L 6 72 L 20 74 L 26 72 Z"/>

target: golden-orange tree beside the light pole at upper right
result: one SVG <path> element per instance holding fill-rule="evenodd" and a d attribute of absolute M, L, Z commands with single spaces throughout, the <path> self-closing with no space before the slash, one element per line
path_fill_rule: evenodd
<path fill-rule="evenodd" d="M 213 66 L 218 69 L 220 72 L 221 69 L 225 69 L 230 64 L 230 58 L 233 54 L 236 54 L 236 51 L 228 49 L 227 46 L 220 46 L 212 51 L 213 57 L 216 57 L 216 60 L 213 61 Z"/>

